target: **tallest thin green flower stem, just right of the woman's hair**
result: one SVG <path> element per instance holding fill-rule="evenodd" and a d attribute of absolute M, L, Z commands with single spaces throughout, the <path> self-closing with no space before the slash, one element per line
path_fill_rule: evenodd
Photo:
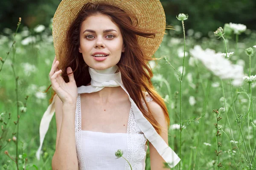
<path fill-rule="evenodd" d="M 181 132 L 182 132 L 182 126 L 181 126 L 181 84 L 182 84 L 182 77 L 184 72 L 184 60 L 185 60 L 185 50 L 186 50 L 186 38 L 185 38 L 185 27 L 184 27 L 184 21 L 181 21 L 182 28 L 183 28 L 183 37 L 184 37 L 184 56 L 183 56 L 183 63 L 182 63 L 182 74 L 180 77 L 180 153 L 179 156 L 181 157 Z M 179 170 L 180 170 L 180 162 L 179 162 Z"/>

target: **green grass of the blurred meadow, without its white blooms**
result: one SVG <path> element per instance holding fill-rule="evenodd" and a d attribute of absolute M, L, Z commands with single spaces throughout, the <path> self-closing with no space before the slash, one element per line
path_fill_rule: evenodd
<path fill-rule="evenodd" d="M 209 30 L 213 31 L 214 30 Z M 175 32 L 175 31 L 172 31 Z M 42 33 L 45 34 L 45 33 Z M 178 34 L 178 33 L 176 33 Z M 35 157 L 35 153 L 39 147 L 39 125 L 41 118 L 43 116 L 44 111 L 46 111 L 47 106 L 49 105 L 49 98 L 51 96 L 50 91 L 47 93 L 44 99 L 38 99 L 35 96 L 35 93 L 38 90 L 32 90 L 29 85 L 37 85 L 38 89 L 41 86 L 42 91 L 46 90 L 46 88 L 50 85 L 49 81 L 49 71 L 52 65 L 52 61 L 54 59 L 54 48 L 52 42 L 47 42 L 46 40 L 41 40 L 40 34 L 38 35 L 38 41 L 29 45 L 22 45 L 20 41 L 22 37 L 20 34 L 17 34 L 16 37 L 16 56 L 15 56 L 15 72 L 19 76 L 18 79 L 18 95 L 19 100 L 21 102 L 25 102 L 25 97 L 29 95 L 27 101 L 27 111 L 26 113 L 19 113 L 20 115 L 20 129 L 19 129 L 19 153 L 21 154 L 21 142 L 24 143 L 24 152 L 28 158 L 27 169 L 34 170 L 38 167 L 39 170 L 50 170 L 51 169 L 51 160 L 52 156 L 55 152 L 55 138 L 56 138 L 56 123 L 55 116 L 50 123 L 49 130 L 44 139 L 44 144 L 42 148 L 41 160 L 38 161 Z M 174 36 L 174 35 L 172 35 Z M 180 34 L 182 36 L 182 34 Z M 245 38 L 239 38 L 238 45 L 238 54 L 234 54 L 231 57 L 231 61 L 236 63 L 238 59 L 243 59 L 245 62 L 244 73 L 248 74 L 249 68 L 249 58 L 244 53 L 245 48 L 252 47 L 255 44 L 256 32 L 252 31 L 249 35 L 246 35 Z M 182 66 L 183 58 L 177 56 L 177 49 L 183 48 L 183 39 L 179 38 L 180 43 L 170 43 L 173 42 L 174 38 L 171 36 L 165 35 L 164 40 L 157 50 L 155 56 L 157 58 L 166 55 L 168 61 L 177 69 L 179 66 Z M 9 44 L 11 40 L 7 42 L 2 42 L 0 45 L 0 57 L 3 59 L 6 56 L 6 52 L 9 50 Z M 203 49 L 211 48 L 215 51 L 225 52 L 225 48 L 222 40 L 217 40 L 215 37 L 204 37 L 200 40 L 196 39 L 193 36 L 186 37 L 186 51 L 188 52 L 190 48 L 193 48 L 194 45 L 201 45 Z M 235 51 L 235 39 L 229 40 L 227 42 L 228 51 Z M 254 48 L 255 49 L 255 48 Z M 13 57 L 13 52 L 9 54 L 8 59 L 11 60 Z M 199 62 L 198 66 L 190 66 L 189 65 L 189 57 L 185 57 L 184 67 L 185 74 L 183 75 L 182 81 L 182 121 L 191 120 L 195 117 L 201 117 L 198 121 L 189 123 L 185 129 L 182 131 L 182 148 L 181 148 L 181 169 L 183 170 L 214 170 L 216 165 L 212 164 L 217 159 L 215 154 L 216 150 L 216 115 L 212 113 L 212 110 L 219 109 L 221 107 L 224 108 L 224 103 L 220 101 L 220 98 L 223 96 L 221 80 L 218 77 L 213 76 L 204 65 Z M 46 60 L 48 60 L 49 64 L 47 65 Z M 24 69 L 21 67 L 22 63 L 30 63 L 31 65 L 35 65 L 37 70 L 32 72 L 31 75 L 27 76 L 24 73 Z M 252 75 L 256 74 L 256 59 L 255 56 L 252 57 Z M 162 59 L 159 61 L 158 65 L 153 68 L 154 75 L 162 75 L 166 82 L 163 80 L 155 80 L 154 87 L 157 91 L 166 98 L 166 95 L 169 95 L 169 99 L 166 100 L 167 108 L 169 109 L 170 115 L 170 124 L 178 124 L 179 117 L 179 81 L 175 75 L 175 71 L 170 67 L 167 62 Z M 191 82 L 188 81 L 187 75 L 192 74 L 192 83 L 195 85 L 195 88 L 192 88 Z M 219 83 L 218 87 L 212 87 L 213 83 Z M 232 99 L 230 94 L 230 87 L 228 80 L 224 80 L 224 91 L 227 102 L 227 108 L 232 105 Z M 189 85 L 190 84 L 190 85 Z M 169 90 L 167 88 L 169 86 Z M 245 91 L 249 94 L 249 88 L 247 84 L 244 84 L 241 87 L 233 87 L 233 95 L 234 99 L 236 99 L 237 93 Z M 195 105 L 189 104 L 189 97 L 194 96 L 196 103 Z M 252 97 L 255 96 L 255 88 L 252 88 Z M 247 101 L 245 101 L 247 99 Z M 239 94 L 238 99 L 235 102 L 236 113 L 240 115 L 244 115 L 248 111 L 248 102 L 249 99 L 245 94 Z M 0 113 L 6 111 L 7 113 L 11 113 L 11 119 L 7 125 L 8 134 L 6 139 L 12 139 L 12 132 L 15 128 L 14 121 L 17 120 L 17 104 L 16 104 L 16 94 L 15 94 L 15 78 L 12 72 L 11 66 L 6 62 L 3 65 L 3 70 L 0 72 Z M 233 109 L 228 111 L 228 118 L 230 120 L 232 132 L 234 139 L 238 141 L 239 137 L 239 127 L 236 124 L 235 114 L 233 113 Z M 254 114 L 255 115 L 255 114 Z M 227 136 L 231 140 L 229 127 L 227 124 L 226 115 L 220 115 L 222 117 L 221 121 L 218 122 L 219 125 L 223 126 L 223 130 L 227 133 Z M 252 114 L 250 114 L 252 116 Z M 254 120 L 255 120 L 254 116 Z M 7 119 L 4 119 L 7 120 Z M 6 121 L 4 121 L 6 122 Z M 226 123 L 225 123 L 226 122 Z M 3 122 L 0 122 L 0 125 L 3 125 Z M 17 125 L 16 125 L 17 126 Z M 253 135 L 253 126 L 250 125 L 251 134 Z M 249 146 L 248 143 L 248 133 L 247 133 L 247 119 L 245 121 L 244 126 L 242 127 L 245 142 L 247 144 L 247 148 Z M 256 129 L 255 129 L 256 130 Z M 256 132 L 255 132 L 256 133 Z M 2 131 L 0 131 L 0 135 Z M 233 159 L 229 154 L 229 139 L 223 132 L 221 132 L 221 137 L 218 138 L 218 141 L 221 142 L 222 147 L 220 148 L 221 154 L 219 155 L 219 160 L 221 164 L 227 170 L 236 169 Z M 179 139 L 180 139 L 180 131 L 169 130 L 169 145 L 175 150 L 178 154 L 179 147 Z M 246 152 L 244 149 L 244 145 L 241 144 L 240 138 L 240 153 L 241 156 L 246 158 Z M 211 144 L 211 146 L 205 145 L 204 142 Z M 4 145 L 6 142 L 4 143 Z M 253 137 L 250 139 L 250 145 L 252 150 L 254 149 Z M 236 151 L 235 145 L 231 143 L 231 147 Z M 3 149 L 0 150 L 0 169 L 3 169 L 3 165 L 7 164 L 8 169 L 16 169 L 16 165 L 8 156 L 4 154 L 4 151 L 8 150 L 10 155 L 15 158 L 16 154 L 16 146 L 13 141 L 9 142 L 9 144 Z M 149 152 L 149 150 L 148 150 Z M 252 153 L 248 150 L 250 158 L 252 157 Z M 234 155 L 234 160 L 236 164 L 239 163 L 239 155 L 236 152 Z M 247 163 L 242 160 L 243 169 L 249 169 L 247 167 Z M 9 161 L 9 162 L 8 162 Z M 212 162 L 212 163 L 211 163 Z M 35 165 L 35 166 L 33 166 Z M 253 168 L 256 168 L 256 161 L 253 161 Z M 22 162 L 20 161 L 20 169 L 22 169 Z M 146 170 L 150 169 L 150 159 L 149 154 L 147 154 L 146 158 Z M 178 169 L 176 166 L 173 169 Z M 239 167 L 241 169 L 241 167 Z"/>

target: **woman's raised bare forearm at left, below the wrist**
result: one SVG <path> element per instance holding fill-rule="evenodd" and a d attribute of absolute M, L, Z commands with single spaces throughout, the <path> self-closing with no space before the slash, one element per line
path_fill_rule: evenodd
<path fill-rule="evenodd" d="M 57 126 L 56 149 L 52 157 L 52 170 L 78 170 L 75 138 L 76 105 L 67 105 L 56 96 Z"/>

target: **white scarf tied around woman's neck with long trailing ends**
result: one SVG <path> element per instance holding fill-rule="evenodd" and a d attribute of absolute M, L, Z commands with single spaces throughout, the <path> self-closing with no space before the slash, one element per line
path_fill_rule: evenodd
<path fill-rule="evenodd" d="M 120 71 L 115 73 L 118 69 L 117 65 L 114 65 L 111 68 L 105 70 L 95 70 L 89 67 L 89 73 L 91 76 L 91 85 L 88 86 L 80 86 L 78 88 L 78 94 L 82 93 L 93 93 L 102 90 L 104 87 L 118 87 L 121 86 L 122 89 L 128 94 L 125 89 Z M 55 95 L 56 96 L 56 95 Z M 53 97 L 52 103 L 48 106 L 47 111 L 45 111 L 41 123 L 40 123 L 40 147 L 36 153 L 36 157 L 40 159 L 40 151 L 42 144 L 44 142 L 44 137 L 49 128 L 49 123 L 52 119 L 52 116 L 55 112 L 55 96 Z M 180 158 L 177 154 L 166 144 L 163 138 L 157 133 L 154 127 L 150 122 L 143 116 L 143 113 L 137 107 L 133 99 L 131 99 L 130 95 L 129 100 L 131 102 L 131 108 L 134 112 L 134 117 L 137 124 L 140 127 L 140 130 L 144 133 L 145 137 L 148 141 L 154 146 L 157 152 L 162 156 L 162 158 L 168 163 L 168 165 L 172 168 L 179 161 Z"/>

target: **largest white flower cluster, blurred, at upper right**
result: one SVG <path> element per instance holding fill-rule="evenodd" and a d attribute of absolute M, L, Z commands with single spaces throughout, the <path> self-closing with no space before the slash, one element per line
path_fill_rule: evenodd
<path fill-rule="evenodd" d="M 219 53 L 207 48 L 203 50 L 200 45 L 195 45 L 194 49 L 189 50 L 190 54 L 201 60 L 201 62 L 208 68 L 215 76 L 221 79 L 234 79 L 233 85 L 239 86 L 243 82 L 243 67 L 241 65 L 234 65 L 228 59 L 225 59 Z"/>

